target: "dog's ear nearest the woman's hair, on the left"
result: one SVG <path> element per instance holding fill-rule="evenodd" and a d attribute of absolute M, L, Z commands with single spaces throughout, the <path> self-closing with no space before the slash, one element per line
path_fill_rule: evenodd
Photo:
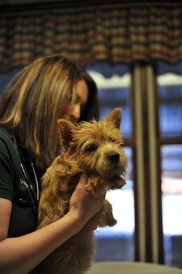
<path fill-rule="evenodd" d="M 57 125 L 60 130 L 62 149 L 68 149 L 70 142 L 73 140 L 73 131 L 77 129 L 77 125 L 65 119 L 58 120 Z"/>

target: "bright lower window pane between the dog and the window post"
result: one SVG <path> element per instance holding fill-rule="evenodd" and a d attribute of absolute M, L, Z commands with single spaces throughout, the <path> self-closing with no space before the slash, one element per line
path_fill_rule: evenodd
<path fill-rule="evenodd" d="M 134 260 L 134 194 L 132 175 L 132 153 L 129 147 L 124 148 L 129 166 L 127 169 L 127 184 L 121 190 L 110 190 L 106 199 L 112 204 L 114 227 L 97 229 L 96 255 L 94 260 Z"/>

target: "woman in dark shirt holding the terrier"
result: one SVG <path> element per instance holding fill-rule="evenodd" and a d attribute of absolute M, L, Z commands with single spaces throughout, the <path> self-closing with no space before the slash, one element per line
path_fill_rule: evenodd
<path fill-rule="evenodd" d="M 39 58 L 12 81 L 0 100 L 0 271 L 29 273 L 100 210 L 82 175 L 62 219 L 36 231 L 40 178 L 59 155 L 57 119 L 98 117 L 96 85 L 60 55 Z"/>

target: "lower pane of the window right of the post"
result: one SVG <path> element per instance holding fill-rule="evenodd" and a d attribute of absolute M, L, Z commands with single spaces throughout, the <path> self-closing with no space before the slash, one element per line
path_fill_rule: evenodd
<path fill-rule="evenodd" d="M 161 147 L 162 210 L 166 264 L 182 265 L 182 145 Z"/>

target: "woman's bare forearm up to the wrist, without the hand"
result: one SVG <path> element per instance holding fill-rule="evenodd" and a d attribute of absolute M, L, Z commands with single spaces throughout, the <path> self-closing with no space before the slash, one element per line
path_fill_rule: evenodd
<path fill-rule="evenodd" d="M 0 242 L 0 273 L 29 273 L 44 258 L 79 232 L 84 223 L 71 214 L 30 234 Z"/>

